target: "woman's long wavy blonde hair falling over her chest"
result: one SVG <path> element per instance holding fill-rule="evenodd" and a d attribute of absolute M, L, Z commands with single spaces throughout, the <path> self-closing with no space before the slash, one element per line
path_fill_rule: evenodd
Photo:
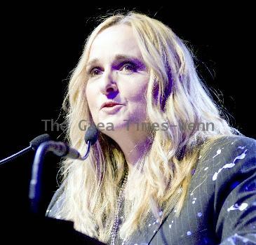
<path fill-rule="evenodd" d="M 160 218 L 159 209 L 165 217 L 175 208 L 175 215 L 179 216 L 201 146 L 208 139 L 239 132 L 230 127 L 221 115 L 210 92 L 198 78 L 191 52 L 170 27 L 140 13 L 117 13 L 102 20 L 93 30 L 72 73 L 63 104 L 69 125 L 67 139 L 72 147 L 84 153 L 86 144 L 79 122 L 86 120 L 88 125 L 93 124 L 85 92 L 85 67 L 90 47 L 100 31 L 113 25 L 132 27 L 147 65 L 149 121 L 159 125 L 187 125 L 192 122 L 200 126 L 189 130 L 181 130 L 180 127 L 149 130 L 149 149 L 134 172 L 129 174 L 126 186 L 125 221 L 119 235 L 127 239 L 136 229 L 143 227 L 150 212 Z M 206 130 L 203 128 L 206 123 L 212 123 L 214 127 Z M 62 162 L 65 202 L 59 214 L 74 221 L 76 230 L 100 241 L 109 241 L 126 169 L 126 159 L 119 146 L 100 133 L 87 160 Z"/>

